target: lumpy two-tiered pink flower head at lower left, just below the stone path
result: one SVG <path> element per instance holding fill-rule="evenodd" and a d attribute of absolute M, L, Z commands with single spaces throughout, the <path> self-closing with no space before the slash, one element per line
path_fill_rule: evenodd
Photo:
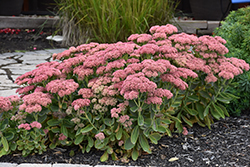
<path fill-rule="evenodd" d="M 19 106 L 20 110 L 28 113 L 42 111 L 42 106 L 48 106 L 51 101 L 51 95 L 42 92 L 34 92 L 23 97 L 23 104 Z"/>

